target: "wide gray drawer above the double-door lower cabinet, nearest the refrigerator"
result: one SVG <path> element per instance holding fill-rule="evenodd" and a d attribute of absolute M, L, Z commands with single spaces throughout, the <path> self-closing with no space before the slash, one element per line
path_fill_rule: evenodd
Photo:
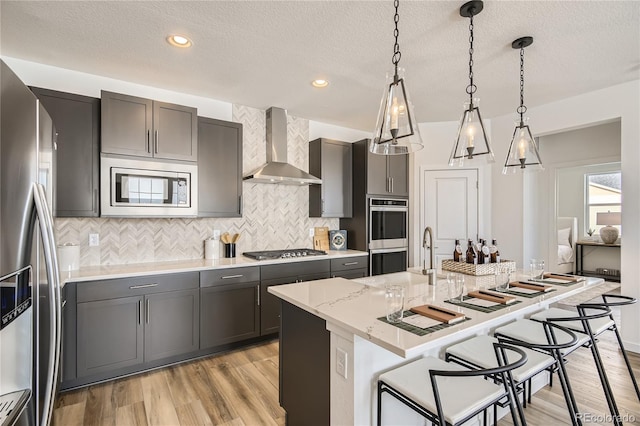
<path fill-rule="evenodd" d="M 197 272 L 91 281 L 78 283 L 78 303 L 190 288 L 198 288 Z"/>

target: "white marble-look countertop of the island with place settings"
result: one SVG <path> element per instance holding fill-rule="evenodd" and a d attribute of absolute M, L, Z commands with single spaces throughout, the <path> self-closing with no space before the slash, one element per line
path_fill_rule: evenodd
<path fill-rule="evenodd" d="M 518 278 L 524 279 L 520 276 Z M 474 328 L 481 331 L 493 323 L 515 319 L 536 306 L 543 309 L 550 303 L 602 282 L 604 281 L 599 278 L 586 278 L 570 286 L 553 286 L 556 291 L 534 298 L 517 297 L 521 303 L 508 305 L 492 313 L 483 313 L 446 303 L 445 300 L 448 298 L 446 279 L 439 278 L 437 284 L 433 286 L 427 283 L 426 276 L 413 272 L 399 272 L 357 280 L 330 278 L 271 286 L 268 291 L 328 323 L 370 340 L 397 355 L 410 358 L 423 353 L 437 344 L 438 340 L 447 338 L 457 331 L 472 332 L 471 329 Z M 422 337 L 380 321 L 377 318 L 386 314 L 385 286 L 390 284 L 399 284 L 405 288 L 405 310 L 428 303 L 464 312 L 471 319 Z M 493 276 L 465 276 L 465 286 L 465 294 L 467 291 L 493 287 Z"/>

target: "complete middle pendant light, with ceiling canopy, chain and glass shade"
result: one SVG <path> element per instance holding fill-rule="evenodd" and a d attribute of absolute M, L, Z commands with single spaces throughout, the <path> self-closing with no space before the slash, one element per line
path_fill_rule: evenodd
<path fill-rule="evenodd" d="M 449 157 L 449 165 L 463 166 L 465 161 L 474 160 L 477 157 L 488 163 L 494 161 L 493 151 L 489 144 L 489 137 L 482 122 L 479 99 L 473 95 L 477 90 L 473 82 L 473 17 L 480 12 L 484 4 L 480 0 L 467 2 L 460 7 L 460 16 L 469 18 L 469 85 L 466 92 L 469 100 L 464 104 L 464 112 L 460 119 L 456 143 Z"/>

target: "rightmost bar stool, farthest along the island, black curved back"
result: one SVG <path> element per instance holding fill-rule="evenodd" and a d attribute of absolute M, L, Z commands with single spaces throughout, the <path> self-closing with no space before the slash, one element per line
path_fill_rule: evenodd
<path fill-rule="evenodd" d="M 580 306 L 589 307 L 589 306 L 600 306 L 611 308 L 614 306 L 626 306 L 633 305 L 638 300 L 634 297 L 629 296 L 621 296 L 618 294 L 603 294 L 602 302 L 592 302 L 592 303 L 583 303 Z M 581 313 L 582 314 L 582 313 Z M 566 309 L 560 308 L 550 308 L 546 311 L 539 312 L 535 315 L 531 316 L 531 319 L 536 321 L 544 321 L 545 318 L 550 317 L 570 317 L 575 316 L 575 312 L 569 311 Z M 563 324 L 565 327 L 578 331 L 580 333 L 584 333 L 584 327 L 581 322 L 566 322 Z M 631 377 L 631 382 L 633 383 L 633 387 L 636 391 L 636 395 L 638 400 L 640 401 L 640 389 L 638 388 L 638 382 L 636 381 L 636 377 L 633 374 L 633 368 L 631 367 L 631 362 L 629 361 L 629 357 L 627 356 L 627 351 L 624 348 L 624 344 L 622 343 L 622 337 L 620 337 L 620 332 L 618 331 L 618 327 L 616 325 L 615 320 L 613 319 L 613 313 L 611 313 L 608 318 L 598 318 L 590 321 L 591 331 L 593 332 L 594 337 L 599 336 L 607 330 L 611 330 L 615 333 L 616 339 L 618 340 L 618 346 L 620 347 L 620 351 L 622 352 L 622 356 L 624 358 L 624 362 L 627 365 L 627 370 L 629 371 L 629 376 Z"/>

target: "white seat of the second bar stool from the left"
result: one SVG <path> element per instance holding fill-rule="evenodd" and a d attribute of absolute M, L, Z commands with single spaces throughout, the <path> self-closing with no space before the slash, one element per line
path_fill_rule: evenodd
<path fill-rule="evenodd" d="M 498 366 L 493 344 L 498 339 L 491 336 L 476 336 L 464 342 L 449 346 L 446 350 L 447 359 L 455 357 L 478 368 L 494 368 Z M 523 349 L 527 354 L 527 363 L 514 369 L 511 374 L 516 382 L 524 382 L 532 376 L 551 367 L 555 360 L 552 356 L 530 349 Z M 515 354 L 507 354 L 509 361 L 516 358 Z"/>

